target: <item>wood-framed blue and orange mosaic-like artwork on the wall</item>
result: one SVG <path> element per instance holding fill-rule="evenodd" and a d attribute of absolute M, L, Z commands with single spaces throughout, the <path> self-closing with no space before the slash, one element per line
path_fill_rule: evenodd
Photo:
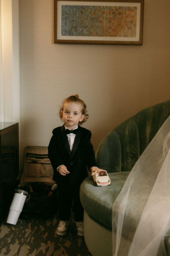
<path fill-rule="evenodd" d="M 54 43 L 142 45 L 144 0 L 54 0 Z"/>

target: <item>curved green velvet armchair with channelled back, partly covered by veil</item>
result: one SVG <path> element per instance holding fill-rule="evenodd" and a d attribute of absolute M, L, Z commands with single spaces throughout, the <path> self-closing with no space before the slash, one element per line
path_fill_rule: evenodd
<path fill-rule="evenodd" d="M 111 185 L 95 187 L 92 177 L 87 177 L 80 188 L 84 238 L 93 256 L 112 255 L 113 202 L 139 156 L 169 115 L 170 100 L 143 109 L 115 127 L 98 146 L 97 166 L 107 170 Z M 169 237 L 167 234 L 167 241 Z"/>

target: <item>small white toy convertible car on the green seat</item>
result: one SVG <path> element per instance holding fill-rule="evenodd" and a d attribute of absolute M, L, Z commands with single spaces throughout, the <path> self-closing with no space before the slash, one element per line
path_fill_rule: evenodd
<path fill-rule="evenodd" d="M 110 185 L 110 178 L 106 170 L 95 170 L 91 174 L 96 186 Z"/>

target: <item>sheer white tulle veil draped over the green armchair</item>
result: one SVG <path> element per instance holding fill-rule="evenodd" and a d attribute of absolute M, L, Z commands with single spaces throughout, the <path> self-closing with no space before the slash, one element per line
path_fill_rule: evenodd
<path fill-rule="evenodd" d="M 170 116 L 141 154 L 113 204 L 113 255 L 166 255 L 170 228 Z"/>

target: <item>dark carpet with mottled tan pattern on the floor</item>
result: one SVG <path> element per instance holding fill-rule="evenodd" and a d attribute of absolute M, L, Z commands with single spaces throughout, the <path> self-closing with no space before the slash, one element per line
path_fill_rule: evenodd
<path fill-rule="evenodd" d="M 92 256 L 84 237 L 77 235 L 73 214 L 66 236 L 59 237 L 56 229 L 57 215 L 46 219 L 31 216 L 19 219 L 16 225 L 2 222 L 0 225 L 1 256 Z"/>

